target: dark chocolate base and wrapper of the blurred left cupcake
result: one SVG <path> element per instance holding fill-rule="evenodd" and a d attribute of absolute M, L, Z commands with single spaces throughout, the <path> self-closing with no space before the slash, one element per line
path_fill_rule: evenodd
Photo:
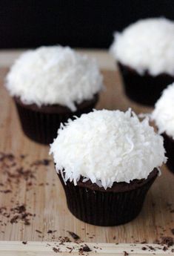
<path fill-rule="evenodd" d="M 77 105 L 76 112 L 61 105 L 43 105 L 40 108 L 36 104 L 25 105 L 17 97 L 14 97 L 14 101 L 24 134 L 35 142 L 47 145 L 56 138 L 61 122 L 92 111 L 98 101 L 98 95 Z"/>

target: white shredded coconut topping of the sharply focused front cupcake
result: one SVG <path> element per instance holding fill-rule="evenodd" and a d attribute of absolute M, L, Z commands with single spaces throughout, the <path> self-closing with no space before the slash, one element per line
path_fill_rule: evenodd
<path fill-rule="evenodd" d="M 105 189 L 115 181 L 146 179 L 166 160 L 163 138 L 148 119 L 140 122 L 131 110 L 94 111 L 69 119 L 59 128 L 50 154 L 65 182 L 76 185 L 82 176 Z"/>

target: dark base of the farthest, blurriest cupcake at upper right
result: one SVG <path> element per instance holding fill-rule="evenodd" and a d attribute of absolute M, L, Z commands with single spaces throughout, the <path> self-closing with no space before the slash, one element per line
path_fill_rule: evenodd
<path fill-rule="evenodd" d="M 135 70 L 118 62 L 124 82 L 124 91 L 126 95 L 135 102 L 143 105 L 155 105 L 155 102 L 161 96 L 161 92 L 174 82 L 174 77 L 165 73 L 158 76 L 150 76 L 145 73 L 139 75 Z"/>

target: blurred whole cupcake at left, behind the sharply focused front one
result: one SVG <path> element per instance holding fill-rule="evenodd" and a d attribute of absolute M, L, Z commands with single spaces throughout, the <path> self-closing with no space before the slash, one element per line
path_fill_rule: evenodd
<path fill-rule="evenodd" d="M 24 134 L 53 142 L 61 122 L 93 110 L 103 88 L 94 59 L 70 47 L 39 47 L 23 53 L 6 78 Z"/>

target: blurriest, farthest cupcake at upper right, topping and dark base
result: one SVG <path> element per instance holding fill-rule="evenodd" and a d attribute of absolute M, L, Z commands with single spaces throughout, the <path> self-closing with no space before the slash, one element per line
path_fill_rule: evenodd
<path fill-rule="evenodd" d="M 111 52 L 126 95 L 143 105 L 155 105 L 161 91 L 174 82 L 174 22 L 142 19 L 114 38 Z"/>

